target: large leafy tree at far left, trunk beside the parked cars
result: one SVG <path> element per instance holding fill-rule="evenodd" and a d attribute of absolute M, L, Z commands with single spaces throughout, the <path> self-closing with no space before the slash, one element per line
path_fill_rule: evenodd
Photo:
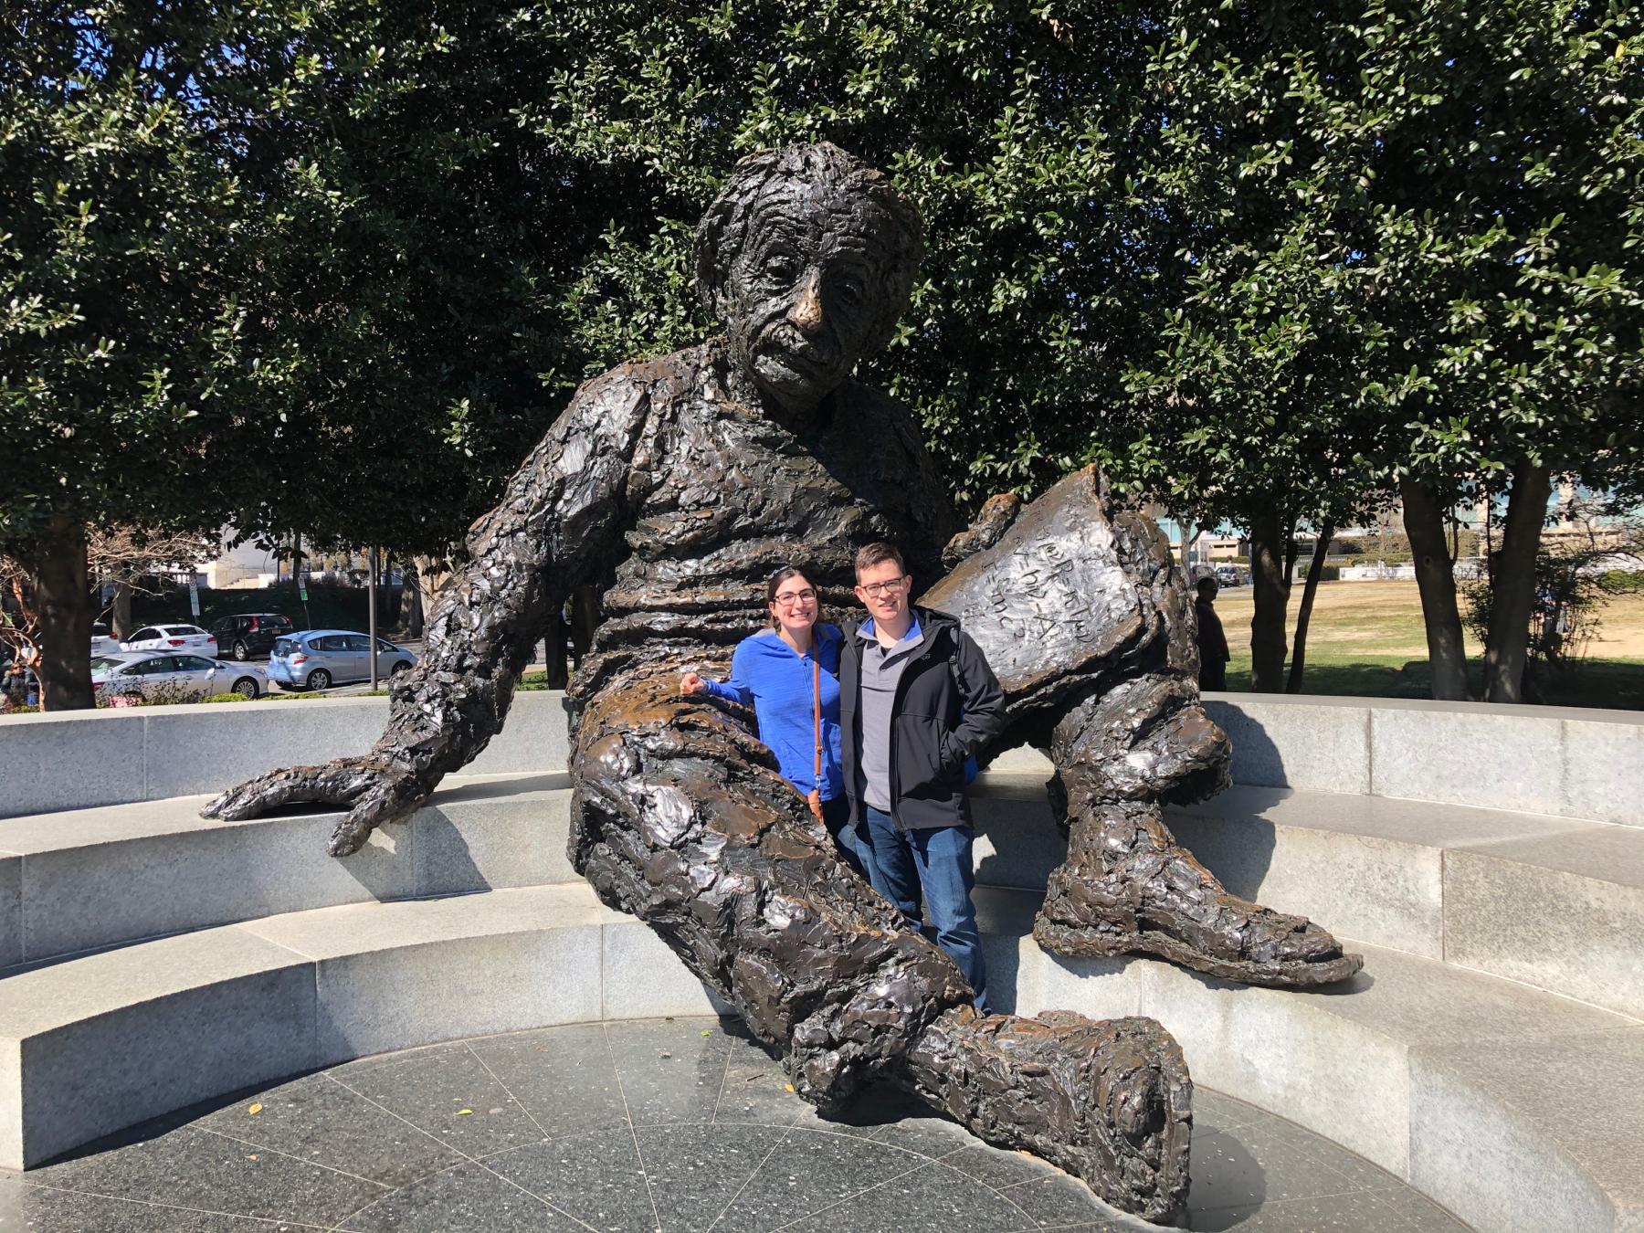
<path fill-rule="evenodd" d="M 603 215 L 511 115 L 533 44 L 441 8 L 0 30 L 0 551 L 53 709 L 90 705 L 87 528 L 442 551 L 546 423 L 567 334 L 541 284 Z"/>

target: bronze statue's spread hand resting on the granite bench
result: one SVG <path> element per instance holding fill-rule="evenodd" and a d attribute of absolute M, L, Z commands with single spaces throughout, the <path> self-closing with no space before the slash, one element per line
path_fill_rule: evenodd
<path fill-rule="evenodd" d="M 427 792 L 409 769 L 386 758 L 339 758 L 324 766 L 288 766 L 247 779 L 214 797 L 201 817 L 242 822 L 289 804 L 347 806 L 349 814 L 330 834 L 332 857 L 358 852 L 383 822 L 401 822 L 416 812 Z"/>

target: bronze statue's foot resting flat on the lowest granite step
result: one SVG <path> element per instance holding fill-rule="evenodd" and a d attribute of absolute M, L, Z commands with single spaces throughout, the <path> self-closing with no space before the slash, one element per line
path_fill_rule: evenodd
<path fill-rule="evenodd" d="M 1228 894 L 1171 837 L 1154 806 L 1088 806 L 1072 819 L 1067 863 L 1051 875 L 1034 922 L 1046 950 L 1157 955 L 1272 988 L 1330 985 L 1365 965 L 1305 917 Z"/>

